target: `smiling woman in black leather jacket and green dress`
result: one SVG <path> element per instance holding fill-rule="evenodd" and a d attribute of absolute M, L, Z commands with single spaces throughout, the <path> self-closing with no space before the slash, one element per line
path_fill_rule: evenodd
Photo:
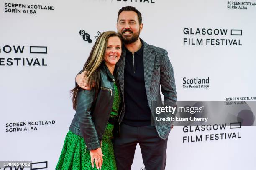
<path fill-rule="evenodd" d="M 84 64 L 92 90 L 78 85 L 72 90 L 76 110 L 66 135 L 56 170 L 116 170 L 111 139 L 123 101 L 115 80 L 115 64 L 121 56 L 121 37 L 114 31 L 100 35 Z M 121 107 L 120 107 L 121 108 Z M 90 151 L 89 151 L 90 150 Z"/>

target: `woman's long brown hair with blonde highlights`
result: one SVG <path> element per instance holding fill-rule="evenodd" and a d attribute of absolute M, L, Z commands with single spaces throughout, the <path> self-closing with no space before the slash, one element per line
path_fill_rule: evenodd
<path fill-rule="evenodd" d="M 107 42 L 110 37 L 119 37 L 122 42 L 121 36 L 115 31 L 103 32 L 92 47 L 90 55 L 84 64 L 83 71 L 87 71 L 84 78 L 87 77 L 87 83 L 89 85 L 95 85 L 96 94 L 98 93 L 99 82 L 100 82 L 100 65 L 104 61 L 105 53 L 107 49 Z M 82 90 L 81 87 L 76 85 L 71 90 L 73 108 L 76 110 L 77 106 L 77 93 Z"/>

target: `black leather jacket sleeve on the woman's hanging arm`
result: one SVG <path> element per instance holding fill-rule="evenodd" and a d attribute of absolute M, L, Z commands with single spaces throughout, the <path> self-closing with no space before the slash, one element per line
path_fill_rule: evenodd
<path fill-rule="evenodd" d="M 92 105 L 95 102 L 95 88 L 80 90 L 77 94 L 76 114 L 84 142 L 89 150 L 100 147 L 95 124 L 92 120 Z"/>

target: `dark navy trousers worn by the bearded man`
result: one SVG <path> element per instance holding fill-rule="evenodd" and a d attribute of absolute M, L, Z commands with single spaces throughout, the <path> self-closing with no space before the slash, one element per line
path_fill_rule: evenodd
<path fill-rule="evenodd" d="M 154 126 L 133 127 L 122 124 L 121 138 L 115 137 L 113 140 L 117 169 L 131 170 L 136 145 L 139 143 L 146 170 L 164 170 L 167 140 L 159 137 Z"/>

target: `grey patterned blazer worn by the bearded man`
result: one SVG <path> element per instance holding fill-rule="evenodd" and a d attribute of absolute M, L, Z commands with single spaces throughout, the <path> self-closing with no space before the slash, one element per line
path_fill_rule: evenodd
<path fill-rule="evenodd" d="M 148 105 L 151 109 L 151 114 L 153 114 L 154 109 L 151 106 L 152 101 L 155 101 L 157 103 L 162 101 L 160 94 L 160 85 L 161 92 L 164 95 L 164 101 L 171 103 L 175 102 L 176 105 L 177 92 L 175 87 L 174 72 L 166 50 L 159 47 L 155 47 L 153 45 L 149 45 L 142 39 L 141 41 L 143 42 L 144 45 L 143 61 L 146 94 L 148 99 Z M 125 53 L 125 48 L 123 47 L 122 55 L 120 57 L 119 62 L 117 63 L 118 80 L 120 83 L 120 89 L 124 100 Z M 125 112 L 125 107 L 123 111 Z M 121 120 L 123 120 L 124 117 L 124 114 L 122 115 L 123 116 L 121 117 Z M 152 115 L 151 117 L 155 116 Z M 168 135 L 171 131 L 171 122 L 156 122 L 156 120 L 154 119 L 154 125 L 156 125 L 156 131 L 160 138 L 168 138 Z"/>

